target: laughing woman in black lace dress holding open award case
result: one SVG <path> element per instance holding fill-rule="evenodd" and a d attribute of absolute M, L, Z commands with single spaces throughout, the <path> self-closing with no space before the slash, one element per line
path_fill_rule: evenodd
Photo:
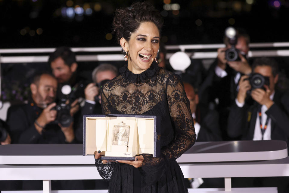
<path fill-rule="evenodd" d="M 163 20 L 148 3 L 137 2 L 116 11 L 113 26 L 126 53 L 127 65 L 101 90 L 104 114 L 147 114 L 161 117 L 161 156 L 143 153 L 135 161 L 101 161 L 95 165 L 109 192 L 188 192 L 176 159 L 195 142 L 189 101 L 179 76 L 155 62 Z"/>

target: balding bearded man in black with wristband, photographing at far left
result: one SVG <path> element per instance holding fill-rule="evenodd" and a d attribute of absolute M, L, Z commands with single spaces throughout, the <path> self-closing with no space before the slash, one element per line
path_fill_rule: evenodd
<path fill-rule="evenodd" d="M 30 88 L 32 95 L 28 104 L 11 106 L 8 109 L 7 124 L 12 142 L 19 144 L 73 143 L 75 141 L 73 123 L 62 127 L 55 122 L 57 117 L 57 111 L 54 109 L 56 79 L 47 73 L 36 75 Z M 73 114 L 76 110 L 77 107 L 73 107 L 70 113 Z"/>

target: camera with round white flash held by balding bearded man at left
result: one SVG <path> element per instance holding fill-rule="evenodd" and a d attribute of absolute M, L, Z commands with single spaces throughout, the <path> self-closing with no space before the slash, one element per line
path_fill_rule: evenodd
<path fill-rule="evenodd" d="M 83 96 L 87 84 L 86 81 L 80 81 L 72 88 L 68 84 L 61 87 L 61 99 L 52 109 L 57 111 L 56 122 L 62 127 L 68 127 L 73 122 L 73 117 L 70 115 L 71 103 Z"/>

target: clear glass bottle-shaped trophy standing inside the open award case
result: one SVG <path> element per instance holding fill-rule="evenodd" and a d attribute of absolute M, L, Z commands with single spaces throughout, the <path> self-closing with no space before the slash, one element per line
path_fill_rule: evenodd
<path fill-rule="evenodd" d="M 129 129 L 129 125 L 126 125 L 124 122 L 114 125 L 112 145 L 127 146 L 129 142 Z"/>

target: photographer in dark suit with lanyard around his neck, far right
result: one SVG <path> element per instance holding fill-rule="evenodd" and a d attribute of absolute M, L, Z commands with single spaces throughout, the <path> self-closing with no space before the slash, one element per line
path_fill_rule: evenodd
<path fill-rule="evenodd" d="M 244 140 L 283 140 L 288 145 L 289 92 L 275 87 L 278 65 L 272 59 L 259 58 L 252 69 L 263 78 L 254 81 L 247 75 L 241 77 L 240 89 L 228 117 L 228 135 L 241 136 Z M 263 87 L 256 88 L 259 83 L 264 83 Z"/>

